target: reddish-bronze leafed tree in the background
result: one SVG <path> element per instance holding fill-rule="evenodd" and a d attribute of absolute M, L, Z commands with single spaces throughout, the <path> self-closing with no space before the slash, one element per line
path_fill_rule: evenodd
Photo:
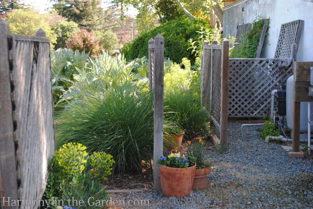
<path fill-rule="evenodd" d="M 99 42 L 100 38 L 96 37 L 95 32 L 89 32 L 86 29 L 80 29 L 73 34 L 72 38 L 65 41 L 66 46 L 73 51 L 77 49 L 79 52 L 83 52 L 85 50 L 86 53 L 90 52 L 90 55 L 102 52 Z"/>

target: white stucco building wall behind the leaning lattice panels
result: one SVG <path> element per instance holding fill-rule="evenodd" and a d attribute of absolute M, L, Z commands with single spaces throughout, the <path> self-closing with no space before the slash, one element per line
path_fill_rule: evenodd
<path fill-rule="evenodd" d="M 281 24 L 304 20 L 297 61 L 313 61 L 313 0 L 241 0 L 223 10 L 225 38 L 228 34 L 236 36 L 237 25 L 252 23 L 257 15 L 270 18 L 261 58 L 274 57 Z"/>

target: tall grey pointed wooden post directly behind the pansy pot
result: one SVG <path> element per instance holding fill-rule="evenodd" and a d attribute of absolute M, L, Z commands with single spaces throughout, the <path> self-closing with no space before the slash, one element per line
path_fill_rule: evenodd
<path fill-rule="evenodd" d="M 153 189 L 162 190 L 157 161 L 163 154 L 163 93 L 164 93 L 164 38 L 159 33 L 155 40 L 154 57 L 154 141 L 153 141 Z"/>

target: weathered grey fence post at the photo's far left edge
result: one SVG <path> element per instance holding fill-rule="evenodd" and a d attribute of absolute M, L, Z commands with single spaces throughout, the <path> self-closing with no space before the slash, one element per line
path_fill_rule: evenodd
<path fill-rule="evenodd" d="M 14 127 L 12 117 L 11 82 L 9 65 L 9 24 L 0 18 L 0 187 L 2 206 L 18 200 Z M 3 201 L 4 198 L 4 202 Z M 9 208 L 18 208 L 11 206 Z"/>

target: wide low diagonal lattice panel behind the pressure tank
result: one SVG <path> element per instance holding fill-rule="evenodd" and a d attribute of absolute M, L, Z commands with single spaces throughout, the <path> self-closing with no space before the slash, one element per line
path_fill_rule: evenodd
<path fill-rule="evenodd" d="M 268 117 L 271 91 L 292 75 L 292 62 L 279 59 L 229 59 L 228 117 Z"/>

